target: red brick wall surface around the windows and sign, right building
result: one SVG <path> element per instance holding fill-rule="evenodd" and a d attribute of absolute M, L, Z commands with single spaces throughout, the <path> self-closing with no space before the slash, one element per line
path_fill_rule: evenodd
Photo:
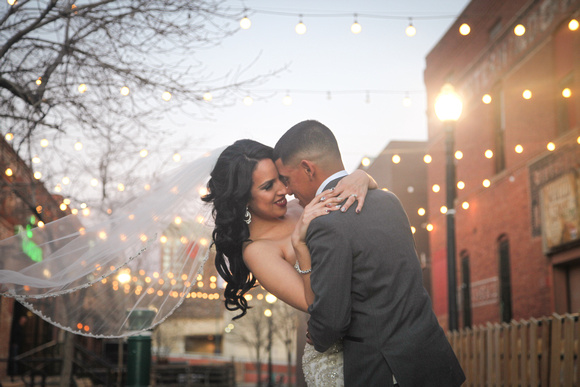
<path fill-rule="evenodd" d="M 522 8 L 530 6 L 530 8 Z M 550 7 L 561 7 L 552 9 Z M 567 29 L 570 16 L 580 10 L 580 1 L 474 0 L 463 15 L 427 56 L 425 84 L 429 106 L 444 82 L 451 82 L 463 97 L 464 110 L 455 127 L 455 149 L 464 157 L 456 160 L 457 180 L 466 188 L 457 190 L 457 253 L 470 257 L 473 324 L 497 322 L 499 311 L 498 238 L 506 235 L 510 244 L 513 318 L 527 319 L 554 311 L 552 268 L 544 255 L 540 237 L 532 235 L 529 165 L 548 153 L 549 141 L 557 145 L 556 107 L 563 76 L 574 72 L 572 89 L 580 89 L 580 31 Z M 471 15 L 471 16 L 470 16 Z M 548 16 L 546 16 L 548 15 Z M 502 31 L 496 40 L 489 30 L 501 20 Z M 472 33 L 459 35 L 457 29 L 469 22 Z M 518 22 L 526 24 L 524 39 L 518 40 L 511 30 Z M 525 89 L 532 91 L 530 100 L 522 98 Z M 505 107 L 506 169 L 495 173 L 494 159 L 484 157 L 486 149 L 497 155 L 494 140 L 494 104 L 503 90 Z M 481 97 L 490 93 L 493 102 L 485 105 Z M 570 103 L 578 105 L 576 100 Z M 580 106 L 578 106 L 580 110 Z M 433 303 L 442 324 L 447 322 L 446 220 L 439 208 L 445 204 L 445 154 L 442 124 L 432 109 L 429 117 L 428 151 L 433 162 L 428 169 L 428 185 L 439 184 L 441 191 L 429 192 L 429 221 L 433 263 Z M 572 116 L 569 134 L 580 134 L 578 120 Z M 569 137 L 573 137 L 569 136 Z M 575 142 L 575 137 L 574 137 Z M 521 144 L 524 152 L 514 147 Z M 482 181 L 491 180 L 484 188 Z M 463 210 L 461 203 L 469 202 Z M 457 285 L 461 284 L 460 261 L 457 258 Z M 460 313 L 461 315 L 461 313 Z M 460 326 L 462 326 L 460 324 Z"/>

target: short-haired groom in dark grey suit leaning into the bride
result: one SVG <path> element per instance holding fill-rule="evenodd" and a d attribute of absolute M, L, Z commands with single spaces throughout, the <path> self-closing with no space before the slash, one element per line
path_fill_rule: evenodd
<path fill-rule="evenodd" d="M 302 206 L 346 175 L 334 135 L 317 121 L 288 130 L 274 160 Z M 308 330 L 319 352 L 343 340 L 345 386 L 392 386 L 393 375 L 404 387 L 463 383 L 423 288 L 411 227 L 395 195 L 369 191 L 361 213 L 314 219 L 306 243 L 315 294 Z"/>

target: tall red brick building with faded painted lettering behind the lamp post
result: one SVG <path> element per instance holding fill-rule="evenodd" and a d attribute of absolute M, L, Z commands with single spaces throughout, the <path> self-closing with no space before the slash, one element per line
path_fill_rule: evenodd
<path fill-rule="evenodd" d="M 464 184 L 455 202 L 459 327 L 580 311 L 579 16 L 579 0 L 473 0 L 426 58 L 428 187 L 440 187 L 428 194 L 433 302 L 443 326 L 445 134 L 433 106 L 445 83 L 463 101 L 454 129 Z"/>

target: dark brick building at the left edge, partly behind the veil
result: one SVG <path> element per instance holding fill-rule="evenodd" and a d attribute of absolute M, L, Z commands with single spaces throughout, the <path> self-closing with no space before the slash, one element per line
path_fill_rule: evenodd
<path fill-rule="evenodd" d="M 12 146 L 0 139 L 0 239 L 15 234 L 18 227 L 35 227 L 66 215 L 59 208 L 61 197 L 51 195 L 33 171 L 18 157 Z M 0 269 L 6 257 L 0 251 Z M 27 316 L 21 319 L 22 316 Z M 18 322 L 23 322 L 18 327 Z M 0 297 L 0 359 L 8 359 L 10 344 L 20 341 L 19 352 L 30 350 L 55 337 L 57 328 L 28 312 L 12 298 Z M 13 332 L 20 332 L 18 336 Z M 0 380 L 8 372 L 8 362 L 0 361 Z"/>

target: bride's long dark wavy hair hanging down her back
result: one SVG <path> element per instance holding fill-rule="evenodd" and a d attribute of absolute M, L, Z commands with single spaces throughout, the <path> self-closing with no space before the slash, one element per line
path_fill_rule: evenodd
<path fill-rule="evenodd" d="M 213 203 L 215 266 L 227 282 L 226 309 L 242 311 L 234 319 L 246 314 L 248 302 L 244 294 L 256 284 L 242 258 L 242 245 L 250 238 L 244 214 L 251 196 L 252 174 L 260 160 L 272 159 L 272 152 L 269 146 L 253 140 L 238 140 L 228 146 L 211 172 L 209 193 L 202 197 L 203 201 Z"/>

